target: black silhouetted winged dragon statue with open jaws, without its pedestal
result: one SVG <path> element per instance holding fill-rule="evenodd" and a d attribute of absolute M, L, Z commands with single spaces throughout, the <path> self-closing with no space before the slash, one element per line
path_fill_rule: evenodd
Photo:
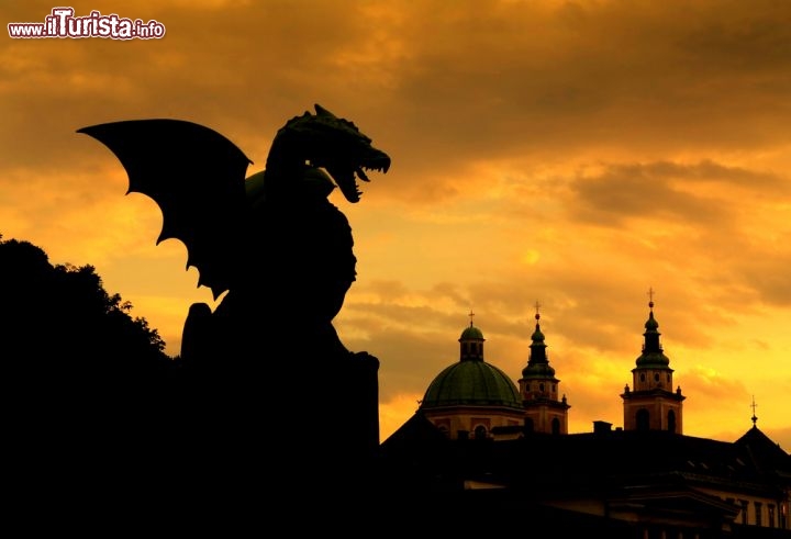
<path fill-rule="evenodd" d="M 315 114 L 296 116 L 277 132 L 265 170 L 249 178 L 253 161 L 196 123 L 130 120 L 78 133 L 115 154 L 129 175 L 127 192 L 159 205 L 157 244 L 183 242 L 198 285 L 209 287 L 215 300 L 227 291 L 215 317 L 256 336 L 263 324 L 322 338 L 334 334 L 327 325 L 355 281 L 356 258 L 348 221 L 327 196 L 337 187 L 357 203 L 357 180 L 390 167 L 390 157 L 353 122 L 316 104 Z"/>

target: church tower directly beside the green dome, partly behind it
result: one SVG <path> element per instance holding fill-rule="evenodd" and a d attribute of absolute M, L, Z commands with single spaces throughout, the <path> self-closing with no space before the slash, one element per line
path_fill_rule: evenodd
<path fill-rule="evenodd" d="M 527 367 L 522 369 L 519 380 L 520 394 L 525 409 L 525 431 L 547 433 L 556 435 L 568 434 L 568 408 L 566 395 L 558 401 L 558 385 L 560 380 L 555 378 L 555 369 L 549 367 L 544 334 L 538 321 L 538 304 L 536 303 L 536 328 L 533 332 Z"/>

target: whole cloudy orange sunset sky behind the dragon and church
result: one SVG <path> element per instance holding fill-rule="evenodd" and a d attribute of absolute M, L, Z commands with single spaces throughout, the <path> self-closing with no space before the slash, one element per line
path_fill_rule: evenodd
<path fill-rule="evenodd" d="M 44 22 L 57 5 L 0 14 Z M 758 426 L 791 448 L 791 3 L 68 5 L 166 34 L 0 40 L 0 234 L 93 265 L 168 352 L 211 293 L 180 243 L 155 245 L 156 204 L 124 195 L 119 161 L 75 131 L 191 120 L 253 173 L 320 103 L 393 161 L 359 204 L 332 195 L 359 260 L 335 325 L 381 361 L 382 439 L 458 360 L 470 308 L 487 361 L 515 382 L 536 301 L 569 430 L 621 426 L 653 287 L 684 434 L 735 440 L 755 395 Z"/>

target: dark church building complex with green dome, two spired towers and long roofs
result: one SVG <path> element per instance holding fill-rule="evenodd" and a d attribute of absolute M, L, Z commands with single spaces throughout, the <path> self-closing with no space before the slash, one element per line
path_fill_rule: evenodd
<path fill-rule="evenodd" d="M 734 441 L 683 434 L 686 396 L 673 389 L 653 299 L 615 429 L 594 422 L 589 433 L 568 433 L 570 405 L 537 308 L 535 318 L 519 385 L 484 361 L 483 334 L 470 321 L 459 361 L 381 443 L 383 492 L 403 501 L 389 505 L 398 523 L 431 521 L 461 537 L 791 537 L 791 456 L 755 415 Z"/>

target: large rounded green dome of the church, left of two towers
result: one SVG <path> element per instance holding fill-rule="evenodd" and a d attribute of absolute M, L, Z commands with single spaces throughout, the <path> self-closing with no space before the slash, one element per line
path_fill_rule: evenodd
<path fill-rule="evenodd" d="M 522 397 L 508 374 L 493 364 L 459 361 L 437 374 L 423 396 L 421 408 L 465 404 L 521 408 Z"/>

